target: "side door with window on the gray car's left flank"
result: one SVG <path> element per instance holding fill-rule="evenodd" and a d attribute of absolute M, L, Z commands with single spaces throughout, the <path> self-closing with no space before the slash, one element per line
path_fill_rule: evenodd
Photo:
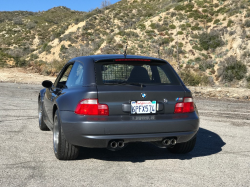
<path fill-rule="evenodd" d="M 51 125 L 53 124 L 53 105 L 55 103 L 56 98 L 60 96 L 63 90 L 67 89 L 66 83 L 73 68 L 73 65 L 74 62 L 65 65 L 52 87 L 46 89 L 44 97 L 44 107 L 48 121 Z"/>

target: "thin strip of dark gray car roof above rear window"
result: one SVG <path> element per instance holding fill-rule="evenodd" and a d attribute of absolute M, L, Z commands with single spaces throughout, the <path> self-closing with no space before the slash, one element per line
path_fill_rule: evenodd
<path fill-rule="evenodd" d="M 150 60 L 162 60 L 159 58 L 153 58 L 153 57 L 148 57 L 148 56 L 138 56 L 138 55 L 117 55 L 117 54 L 109 54 L 109 55 L 90 55 L 90 56 L 81 56 L 81 57 L 76 57 L 72 60 L 84 60 L 84 59 L 89 59 L 91 58 L 93 61 L 99 61 L 99 60 L 105 60 L 105 59 L 125 59 L 125 58 L 135 58 L 135 59 L 150 59 Z"/>

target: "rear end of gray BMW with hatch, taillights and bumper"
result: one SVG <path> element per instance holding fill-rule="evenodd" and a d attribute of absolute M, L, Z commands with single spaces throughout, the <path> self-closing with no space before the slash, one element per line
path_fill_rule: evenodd
<path fill-rule="evenodd" d="M 71 144 L 119 149 L 139 141 L 167 147 L 196 135 L 199 117 L 191 92 L 166 61 L 113 57 L 93 63 L 97 96 L 61 113 Z"/>

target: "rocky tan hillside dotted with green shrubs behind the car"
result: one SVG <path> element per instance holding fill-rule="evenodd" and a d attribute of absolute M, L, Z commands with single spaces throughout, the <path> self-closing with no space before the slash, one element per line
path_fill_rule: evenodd
<path fill-rule="evenodd" d="M 249 0 L 121 0 L 91 12 L 0 12 L 0 66 L 54 74 L 70 58 L 168 60 L 189 85 L 250 88 Z"/>

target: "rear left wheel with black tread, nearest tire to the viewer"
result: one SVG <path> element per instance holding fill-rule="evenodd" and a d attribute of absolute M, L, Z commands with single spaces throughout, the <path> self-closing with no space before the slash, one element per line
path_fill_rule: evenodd
<path fill-rule="evenodd" d="M 53 148 L 55 156 L 58 160 L 74 160 L 79 155 L 79 148 L 71 145 L 65 139 L 58 111 L 55 112 L 54 116 Z"/>

